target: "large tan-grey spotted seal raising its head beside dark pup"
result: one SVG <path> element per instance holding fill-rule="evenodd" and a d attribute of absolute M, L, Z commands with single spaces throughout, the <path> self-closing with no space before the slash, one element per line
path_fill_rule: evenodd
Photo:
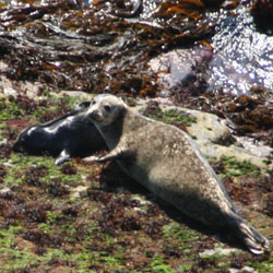
<path fill-rule="evenodd" d="M 86 110 L 109 153 L 150 191 L 206 226 L 225 230 L 254 254 L 269 241 L 236 211 L 195 142 L 178 128 L 135 114 L 114 95 L 97 95 Z"/>

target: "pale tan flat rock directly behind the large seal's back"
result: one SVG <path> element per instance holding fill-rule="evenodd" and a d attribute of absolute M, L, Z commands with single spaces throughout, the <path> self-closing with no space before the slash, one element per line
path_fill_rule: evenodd
<path fill-rule="evenodd" d="M 151 100 L 159 104 L 158 99 L 146 99 L 145 103 L 141 100 L 140 105 L 136 106 L 136 110 L 143 112 L 147 103 Z M 201 152 L 205 156 L 216 159 L 221 159 L 223 156 L 234 156 L 237 161 L 248 161 L 260 168 L 272 168 L 272 165 L 270 166 L 265 163 L 269 159 L 266 156 L 273 151 L 271 147 L 257 144 L 251 146 L 250 150 L 247 145 L 242 145 L 241 142 L 237 142 L 232 135 L 232 131 L 227 127 L 226 121 L 216 115 L 161 104 L 159 107 L 163 111 L 175 109 L 195 117 L 197 122 L 186 126 L 186 128 L 189 134 L 195 139 Z"/>

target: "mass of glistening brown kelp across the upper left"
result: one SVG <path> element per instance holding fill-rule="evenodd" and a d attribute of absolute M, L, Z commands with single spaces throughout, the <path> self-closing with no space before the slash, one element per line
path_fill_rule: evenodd
<path fill-rule="evenodd" d="M 17 3 L 0 11 L 1 72 L 49 88 L 154 95 L 151 57 L 214 32 L 201 0 Z"/>

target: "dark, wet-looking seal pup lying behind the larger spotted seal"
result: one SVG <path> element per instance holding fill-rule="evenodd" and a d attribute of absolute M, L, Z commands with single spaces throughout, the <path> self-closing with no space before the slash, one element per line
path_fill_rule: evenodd
<path fill-rule="evenodd" d="M 83 102 L 68 115 L 25 129 L 19 135 L 13 150 L 31 155 L 47 152 L 57 157 L 56 165 L 61 165 L 70 157 L 85 157 L 106 149 L 96 127 L 82 112 L 88 105 L 88 102 Z"/>

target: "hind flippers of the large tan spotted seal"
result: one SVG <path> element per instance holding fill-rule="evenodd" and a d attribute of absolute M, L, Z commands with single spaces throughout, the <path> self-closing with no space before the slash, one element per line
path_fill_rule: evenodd
<path fill-rule="evenodd" d="M 236 233 L 236 237 L 242 241 L 250 252 L 262 254 L 269 248 L 269 240 L 238 214 L 233 213 L 233 219 L 235 221 L 233 229 Z"/>

